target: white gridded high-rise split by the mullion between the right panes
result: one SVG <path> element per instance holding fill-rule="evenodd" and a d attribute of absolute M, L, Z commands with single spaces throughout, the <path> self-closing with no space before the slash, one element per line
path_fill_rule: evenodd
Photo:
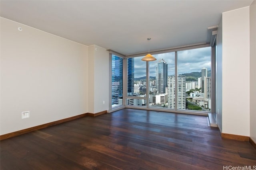
<path fill-rule="evenodd" d="M 175 108 L 175 76 L 168 76 L 168 108 Z M 186 109 L 186 76 L 178 76 L 178 109 Z"/>

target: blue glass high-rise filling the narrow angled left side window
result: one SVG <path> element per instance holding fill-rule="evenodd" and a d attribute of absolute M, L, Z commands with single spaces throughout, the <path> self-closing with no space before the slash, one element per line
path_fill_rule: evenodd
<path fill-rule="evenodd" d="M 123 59 L 112 55 L 112 105 L 123 98 Z"/>

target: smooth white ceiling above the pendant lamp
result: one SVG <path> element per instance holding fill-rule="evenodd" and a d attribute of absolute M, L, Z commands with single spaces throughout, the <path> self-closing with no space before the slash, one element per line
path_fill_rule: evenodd
<path fill-rule="evenodd" d="M 1 0 L 1 16 L 124 55 L 205 43 L 222 12 L 253 0 Z M 147 38 L 150 37 L 150 43 Z"/>

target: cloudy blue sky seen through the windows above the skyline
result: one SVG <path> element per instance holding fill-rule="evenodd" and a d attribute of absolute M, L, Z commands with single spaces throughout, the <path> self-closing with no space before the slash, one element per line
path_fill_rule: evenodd
<path fill-rule="evenodd" d="M 168 75 L 174 75 L 174 55 L 174 52 L 153 55 L 156 61 L 149 62 L 150 76 L 156 76 L 156 66 L 160 59 L 168 64 Z M 146 76 L 146 62 L 141 61 L 143 57 L 134 58 L 135 78 Z M 178 74 L 200 72 L 204 67 L 211 69 L 211 47 L 178 51 Z"/>

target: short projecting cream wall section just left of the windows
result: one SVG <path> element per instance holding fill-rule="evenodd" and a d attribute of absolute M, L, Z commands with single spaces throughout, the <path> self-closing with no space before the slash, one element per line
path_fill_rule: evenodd
<path fill-rule="evenodd" d="M 106 111 L 109 109 L 109 52 L 97 45 L 89 46 L 89 64 L 89 113 Z"/>

